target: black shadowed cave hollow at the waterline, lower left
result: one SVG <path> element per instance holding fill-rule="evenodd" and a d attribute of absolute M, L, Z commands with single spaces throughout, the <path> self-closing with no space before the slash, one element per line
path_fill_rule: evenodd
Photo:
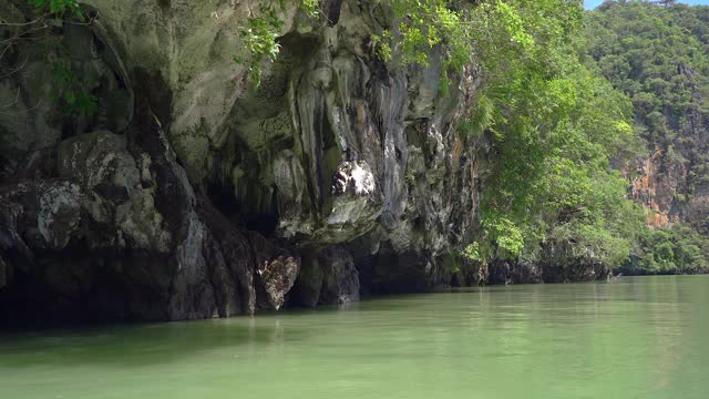
<path fill-rule="evenodd" d="M 78 241 L 62 253 L 35 253 L 16 257 L 7 285 L 0 288 L 0 329 L 93 326 L 115 321 L 141 321 L 136 300 L 151 318 L 165 319 L 164 298 L 141 269 L 144 255 L 86 252 Z M 143 310 L 142 309 L 142 310 Z M 141 311 L 142 311 L 141 310 Z"/>

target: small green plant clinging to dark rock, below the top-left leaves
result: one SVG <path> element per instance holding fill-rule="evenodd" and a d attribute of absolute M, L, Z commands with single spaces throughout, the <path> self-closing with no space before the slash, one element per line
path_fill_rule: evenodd
<path fill-rule="evenodd" d="M 68 62 L 56 62 L 52 70 L 54 92 L 52 96 L 68 114 L 83 113 L 93 116 L 99 110 L 99 99 L 89 89 L 89 82 L 80 80 Z"/>

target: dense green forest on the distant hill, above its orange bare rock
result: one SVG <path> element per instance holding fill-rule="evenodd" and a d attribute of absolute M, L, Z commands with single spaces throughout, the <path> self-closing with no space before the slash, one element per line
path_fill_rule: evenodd
<path fill-rule="evenodd" d="M 706 191 L 709 166 L 709 8 L 607 1 L 588 12 L 588 54 L 635 106 L 635 130 L 661 170 L 686 168 L 678 193 Z M 709 232 L 709 225 L 692 222 Z"/>

